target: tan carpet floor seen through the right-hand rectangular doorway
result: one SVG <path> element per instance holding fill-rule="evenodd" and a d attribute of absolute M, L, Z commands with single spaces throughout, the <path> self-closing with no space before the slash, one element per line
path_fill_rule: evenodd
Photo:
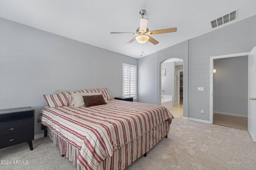
<path fill-rule="evenodd" d="M 214 113 L 213 124 L 247 130 L 248 117 Z"/>

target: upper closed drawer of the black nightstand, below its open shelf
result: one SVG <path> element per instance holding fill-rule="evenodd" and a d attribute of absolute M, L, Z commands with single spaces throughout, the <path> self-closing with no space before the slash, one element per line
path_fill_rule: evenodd
<path fill-rule="evenodd" d="M 34 119 L 0 125 L 0 137 L 18 132 L 28 131 L 34 128 Z"/>

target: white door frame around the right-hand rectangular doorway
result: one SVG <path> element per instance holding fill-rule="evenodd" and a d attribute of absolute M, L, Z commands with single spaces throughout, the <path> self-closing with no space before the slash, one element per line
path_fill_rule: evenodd
<path fill-rule="evenodd" d="M 239 57 L 244 55 L 249 55 L 250 52 L 245 53 L 235 53 L 235 54 L 228 54 L 228 55 L 217 55 L 210 57 L 210 124 L 213 123 L 213 60 L 214 59 L 223 59 L 229 57 Z M 218 71 L 218 70 L 217 70 Z"/>

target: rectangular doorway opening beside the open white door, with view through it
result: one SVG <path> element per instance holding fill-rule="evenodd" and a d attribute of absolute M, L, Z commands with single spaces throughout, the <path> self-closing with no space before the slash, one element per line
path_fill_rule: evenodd
<path fill-rule="evenodd" d="M 214 59 L 213 124 L 248 129 L 248 56 Z"/>

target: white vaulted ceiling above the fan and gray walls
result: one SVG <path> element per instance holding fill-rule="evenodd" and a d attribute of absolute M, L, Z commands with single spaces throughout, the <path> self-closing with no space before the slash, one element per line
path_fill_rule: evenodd
<path fill-rule="evenodd" d="M 238 8 L 238 18 L 212 29 L 210 21 Z M 256 0 L 0 0 L 0 17 L 77 41 L 140 58 L 142 44 L 135 35 L 140 9 L 148 28 L 177 27 L 176 33 L 152 35 L 160 43 L 144 44 L 144 55 L 256 15 Z M 142 57 L 143 57 L 142 56 Z"/>

